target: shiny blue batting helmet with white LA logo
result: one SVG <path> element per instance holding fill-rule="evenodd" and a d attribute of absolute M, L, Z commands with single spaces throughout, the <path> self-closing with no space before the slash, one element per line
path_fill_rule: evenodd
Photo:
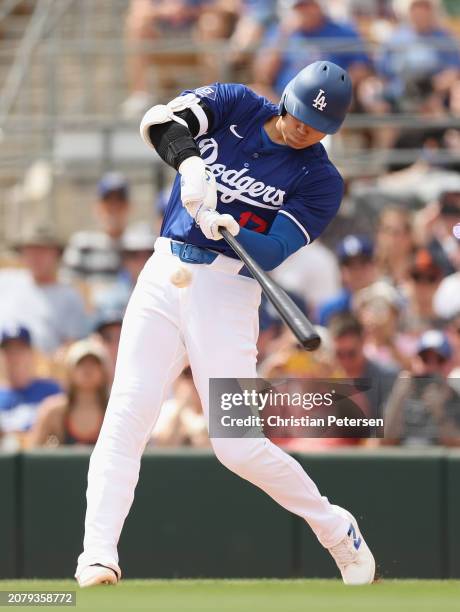
<path fill-rule="evenodd" d="M 335 134 L 345 119 L 351 94 L 346 70 L 332 62 L 314 62 L 286 85 L 279 114 L 289 113 L 315 130 Z"/>

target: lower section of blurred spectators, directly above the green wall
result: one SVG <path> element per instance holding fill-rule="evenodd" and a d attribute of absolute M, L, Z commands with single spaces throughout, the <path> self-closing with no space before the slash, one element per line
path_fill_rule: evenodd
<path fill-rule="evenodd" d="M 5 448 L 94 444 L 114 376 L 124 310 L 154 250 L 148 224 L 130 223 L 130 192 L 104 175 L 100 228 L 66 244 L 50 224 L 24 229 L 0 269 L 0 435 Z M 291 449 L 356 444 L 460 445 L 460 189 L 418 209 L 382 207 L 367 233 L 349 232 L 364 205 L 273 272 L 322 337 L 301 349 L 276 311 L 259 310 L 263 378 L 369 381 L 363 414 L 385 438 L 277 440 Z M 353 221 L 354 219 L 354 221 Z M 14 263 L 14 265 L 13 265 Z M 152 446 L 207 446 L 187 368 L 169 391 Z M 274 436 L 276 438 L 276 435 Z"/>

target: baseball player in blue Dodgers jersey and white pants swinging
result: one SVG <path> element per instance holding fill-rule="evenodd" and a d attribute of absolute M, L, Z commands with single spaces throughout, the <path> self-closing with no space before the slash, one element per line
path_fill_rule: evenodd
<path fill-rule="evenodd" d="M 121 578 L 117 544 L 140 459 L 172 382 L 190 363 L 203 410 L 209 379 L 255 378 L 260 287 L 222 239 L 227 228 L 265 269 L 315 240 L 336 214 L 343 181 L 320 141 L 340 128 L 348 74 L 310 64 L 279 107 L 215 83 L 152 107 L 144 141 L 178 171 L 155 252 L 129 302 L 115 380 L 88 472 L 80 586 Z M 218 459 L 302 517 L 346 584 L 373 581 L 355 518 L 331 505 L 291 456 L 266 438 L 214 438 Z"/>

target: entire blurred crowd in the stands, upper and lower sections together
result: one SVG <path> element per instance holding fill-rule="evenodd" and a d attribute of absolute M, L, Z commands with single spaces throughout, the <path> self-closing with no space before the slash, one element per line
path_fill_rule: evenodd
<path fill-rule="evenodd" d="M 421 122 L 459 117 L 458 23 L 446 10 L 454 5 L 132 0 L 131 93 L 121 110 L 136 117 L 164 101 L 180 67 L 202 69 L 202 83 L 212 81 L 218 71 L 206 49 L 227 40 L 232 80 L 274 101 L 301 67 L 325 58 L 349 70 L 354 112 L 413 113 Z M 157 40 L 166 45 L 161 54 L 146 53 L 142 43 Z M 203 50 L 178 53 L 190 41 Z M 346 131 L 370 149 L 420 154 L 415 163 L 390 160 L 377 179 L 348 179 L 340 213 L 321 240 L 273 272 L 318 326 L 322 344 L 302 350 L 263 298 L 258 368 L 263 378 L 370 381 L 356 401 L 365 415 L 384 418 L 385 438 L 273 437 L 291 450 L 459 446 L 460 174 L 433 152 L 460 152 L 460 130 Z M 119 172 L 102 176 L 94 196 L 98 229 L 61 240 L 52 220 L 31 223 L 11 237 L 0 265 L 0 448 L 97 439 L 123 314 L 159 226 L 132 222 L 130 185 Z M 157 216 L 164 200 L 158 194 Z M 209 445 L 189 368 L 169 390 L 148 444 Z"/>

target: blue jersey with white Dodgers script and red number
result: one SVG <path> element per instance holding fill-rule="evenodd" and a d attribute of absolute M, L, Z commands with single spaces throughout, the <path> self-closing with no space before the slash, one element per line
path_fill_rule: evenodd
<path fill-rule="evenodd" d="M 282 214 L 302 233 L 305 244 L 317 238 L 337 213 L 343 195 L 342 178 L 324 147 L 267 147 L 261 129 L 277 115 L 278 107 L 244 85 L 215 83 L 194 93 L 213 115 L 212 129 L 197 143 L 216 178 L 218 212 L 264 234 Z M 208 240 L 182 206 L 179 175 L 161 235 L 236 257 L 225 241 Z"/>

